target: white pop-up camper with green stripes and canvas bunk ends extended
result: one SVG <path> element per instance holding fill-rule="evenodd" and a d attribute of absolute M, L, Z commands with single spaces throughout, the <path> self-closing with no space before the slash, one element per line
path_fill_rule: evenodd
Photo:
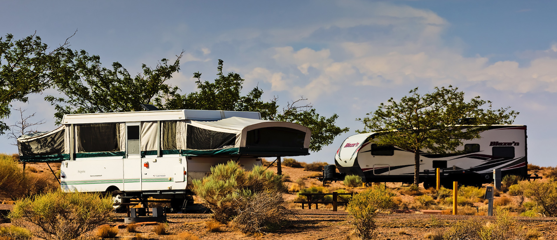
<path fill-rule="evenodd" d="M 311 131 L 258 112 L 169 110 L 69 114 L 51 132 L 18 138 L 22 162 L 61 162 L 63 191 L 190 199 L 190 183 L 219 163 L 309 154 Z"/>

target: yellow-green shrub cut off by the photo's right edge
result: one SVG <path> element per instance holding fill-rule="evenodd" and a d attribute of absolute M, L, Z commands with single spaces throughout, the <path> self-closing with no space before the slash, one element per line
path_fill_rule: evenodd
<path fill-rule="evenodd" d="M 549 217 L 557 216 L 557 182 L 531 182 L 524 185 L 524 196 L 536 203 L 536 209 Z M 525 203 L 526 204 L 526 203 Z"/>

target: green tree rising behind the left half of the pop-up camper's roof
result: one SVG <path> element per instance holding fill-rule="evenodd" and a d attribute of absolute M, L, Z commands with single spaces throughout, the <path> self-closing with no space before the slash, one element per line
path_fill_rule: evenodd
<path fill-rule="evenodd" d="M 59 69 L 64 76 L 55 88 L 65 97 L 47 96 L 55 106 L 58 124 L 64 114 L 141 111 L 141 103 L 149 103 L 170 86 L 165 84 L 180 69 L 180 58 L 173 64 L 162 59 L 155 68 L 141 66 L 143 74 L 132 77 L 122 64 L 115 62 L 112 69 L 101 66 L 100 57 L 84 50 L 67 51 Z"/>

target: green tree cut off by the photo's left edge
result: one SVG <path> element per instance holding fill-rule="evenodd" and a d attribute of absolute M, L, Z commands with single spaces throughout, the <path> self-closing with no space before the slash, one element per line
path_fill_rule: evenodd
<path fill-rule="evenodd" d="M 5 39 L 0 37 L 0 119 L 9 117 L 13 101 L 27 102 L 28 94 L 50 88 L 60 77 L 60 63 L 69 50 L 68 39 L 49 52 L 47 44 L 35 34 L 19 40 L 14 40 L 12 34 Z M 0 134 L 7 129 L 7 124 L 0 121 Z"/>

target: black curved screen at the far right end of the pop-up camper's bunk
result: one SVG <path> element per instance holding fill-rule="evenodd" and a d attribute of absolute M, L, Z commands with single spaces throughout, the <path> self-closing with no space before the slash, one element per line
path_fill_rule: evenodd
<path fill-rule="evenodd" d="M 267 127 L 247 132 L 246 147 L 304 147 L 306 133 L 286 127 Z"/>

